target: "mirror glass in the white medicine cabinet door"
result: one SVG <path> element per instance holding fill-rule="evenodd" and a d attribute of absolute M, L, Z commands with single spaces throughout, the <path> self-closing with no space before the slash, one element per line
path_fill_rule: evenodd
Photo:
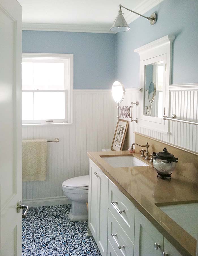
<path fill-rule="evenodd" d="M 144 115 L 162 118 L 163 61 L 145 65 Z"/>

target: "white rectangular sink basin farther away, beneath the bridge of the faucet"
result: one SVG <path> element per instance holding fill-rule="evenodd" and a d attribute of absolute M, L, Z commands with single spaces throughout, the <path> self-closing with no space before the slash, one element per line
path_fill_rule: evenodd
<path fill-rule="evenodd" d="M 134 156 L 107 156 L 103 159 L 112 167 L 149 166 Z"/>

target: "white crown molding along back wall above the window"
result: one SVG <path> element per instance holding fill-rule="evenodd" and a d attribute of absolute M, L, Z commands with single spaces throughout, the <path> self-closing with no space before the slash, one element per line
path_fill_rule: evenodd
<path fill-rule="evenodd" d="M 100 26 L 66 25 L 66 24 L 44 24 L 44 23 L 23 23 L 22 30 L 88 32 L 88 33 L 109 33 L 109 34 L 116 33 L 110 30 L 110 26 L 100 27 Z"/>

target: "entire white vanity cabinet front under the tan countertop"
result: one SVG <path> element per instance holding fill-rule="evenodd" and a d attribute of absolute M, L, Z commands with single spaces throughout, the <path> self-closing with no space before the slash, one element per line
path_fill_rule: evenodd
<path fill-rule="evenodd" d="M 102 256 L 186 256 L 89 160 L 88 233 Z"/>

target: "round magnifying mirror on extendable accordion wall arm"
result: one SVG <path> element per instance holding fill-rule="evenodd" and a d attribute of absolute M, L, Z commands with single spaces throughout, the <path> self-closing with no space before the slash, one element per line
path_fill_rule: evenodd
<path fill-rule="evenodd" d="M 117 108 L 118 108 L 118 120 L 120 117 L 124 117 L 124 118 L 130 118 L 131 122 L 136 122 L 138 123 L 138 119 L 136 118 L 135 120 L 133 120 L 133 105 L 138 106 L 139 102 L 132 102 L 131 106 L 123 106 L 122 108 L 119 106 L 119 103 L 121 103 L 124 99 L 124 94 L 125 94 L 125 89 L 124 89 L 124 85 L 119 82 L 119 81 L 115 81 L 113 83 L 112 89 L 111 89 L 111 93 L 113 96 L 113 99 L 115 100 L 115 102 L 118 103 Z M 119 110 L 121 111 L 120 115 L 119 115 Z M 131 113 L 130 113 L 131 110 Z"/>

